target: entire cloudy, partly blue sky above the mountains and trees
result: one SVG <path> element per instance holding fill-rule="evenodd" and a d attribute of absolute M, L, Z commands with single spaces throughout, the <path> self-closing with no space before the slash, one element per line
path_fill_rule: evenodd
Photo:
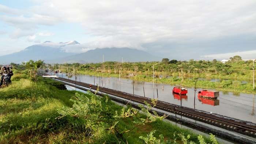
<path fill-rule="evenodd" d="M 128 47 L 180 60 L 255 58 L 255 7 L 255 0 L 4 0 L 0 55 L 76 40 L 77 53 Z"/>

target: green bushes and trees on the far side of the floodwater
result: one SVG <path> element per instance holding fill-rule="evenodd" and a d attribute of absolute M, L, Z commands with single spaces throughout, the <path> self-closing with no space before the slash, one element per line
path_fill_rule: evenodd
<path fill-rule="evenodd" d="M 103 77 L 122 77 L 186 87 L 209 88 L 221 91 L 256 93 L 253 89 L 253 61 L 243 61 L 240 56 L 221 61 L 177 61 L 163 58 L 161 62 L 103 62 L 89 64 L 54 64 L 50 69 L 64 73 L 86 74 Z"/>

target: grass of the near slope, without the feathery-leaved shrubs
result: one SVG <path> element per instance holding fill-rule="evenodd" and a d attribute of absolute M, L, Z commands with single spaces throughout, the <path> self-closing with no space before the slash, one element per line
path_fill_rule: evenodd
<path fill-rule="evenodd" d="M 37 83 L 31 82 L 25 76 L 15 73 L 13 84 L 0 88 L 0 143 L 117 143 L 113 136 L 89 139 L 82 119 L 56 119 L 60 116 L 56 113 L 58 109 L 72 106 L 69 99 L 76 91 L 59 90 L 46 85 L 42 79 Z M 120 109 L 121 106 L 111 103 L 110 113 Z M 145 117 L 143 114 L 140 116 Z M 120 123 L 121 129 L 132 128 L 129 120 Z M 153 129 L 157 130 L 155 136 L 163 134 L 165 139 L 172 139 L 173 133 L 177 132 L 191 134 L 191 140 L 196 141 L 196 135 L 191 131 L 163 121 L 140 126 L 124 137 L 128 143 L 143 143 L 139 136 L 146 136 Z"/>

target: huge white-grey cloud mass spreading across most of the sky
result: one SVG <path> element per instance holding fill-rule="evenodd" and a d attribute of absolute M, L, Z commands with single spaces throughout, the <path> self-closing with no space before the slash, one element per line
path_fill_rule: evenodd
<path fill-rule="evenodd" d="M 41 25 L 79 23 L 84 28 L 81 31 L 90 37 L 82 42 L 83 51 L 104 47 L 145 49 L 147 43 L 174 43 L 187 48 L 184 43 L 256 34 L 255 0 L 34 0 L 34 4 L 26 11 L 0 5 L 0 12 L 7 14 L 0 15 L 0 20 L 20 30 L 14 38 L 53 35 L 31 33 Z"/>

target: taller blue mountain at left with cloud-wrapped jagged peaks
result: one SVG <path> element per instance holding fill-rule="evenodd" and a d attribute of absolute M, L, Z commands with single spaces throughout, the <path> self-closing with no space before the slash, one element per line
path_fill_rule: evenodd
<path fill-rule="evenodd" d="M 80 44 L 77 41 L 70 41 L 65 43 L 53 43 L 45 41 L 38 45 L 32 45 L 20 52 L 0 56 L 1 64 L 8 64 L 10 62 L 20 63 L 29 60 L 50 60 L 55 58 L 62 58 L 74 55 L 74 53 L 67 53 L 63 50 L 66 45 Z"/>

